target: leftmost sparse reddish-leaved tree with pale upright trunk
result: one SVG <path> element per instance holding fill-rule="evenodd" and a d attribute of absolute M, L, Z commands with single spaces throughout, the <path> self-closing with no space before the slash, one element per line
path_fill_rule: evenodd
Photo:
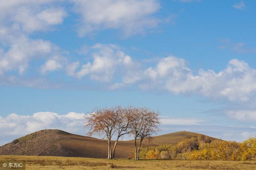
<path fill-rule="evenodd" d="M 116 110 L 119 108 L 101 108 L 93 113 L 84 116 L 86 118 L 85 127 L 89 127 L 88 136 L 92 134 L 105 135 L 108 140 L 108 159 L 112 159 L 111 138 L 116 131 Z"/>

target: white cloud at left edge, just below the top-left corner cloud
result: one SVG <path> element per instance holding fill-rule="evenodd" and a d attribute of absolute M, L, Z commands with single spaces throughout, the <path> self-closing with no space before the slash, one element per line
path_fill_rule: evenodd
<path fill-rule="evenodd" d="M 13 30 L 17 32 L 13 34 Z M 30 60 L 47 57 L 58 49 L 50 41 L 33 40 L 19 32 L 18 29 L 13 28 L 13 30 L 2 28 L 2 32 L 0 31 L 0 40 L 5 46 L 10 47 L 7 51 L 2 51 L 0 74 L 10 70 L 18 70 L 20 74 L 23 74 Z"/>

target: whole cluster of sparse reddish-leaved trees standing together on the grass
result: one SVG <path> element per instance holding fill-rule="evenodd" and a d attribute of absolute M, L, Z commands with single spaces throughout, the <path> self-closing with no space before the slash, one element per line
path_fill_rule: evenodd
<path fill-rule="evenodd" d="M 159 130 L 159 113 L 146 107 L 96 108 L 92 113 L 84 116 L 88 136 L 104 135 L 108 140 L 108 159 L 115 159 L 118 140 L 125 134 L 134 137 L 135 160 L 139 160 L 143 140 L 150 140 Z M 111 140 L 115 136 L 112 149 Z"/>

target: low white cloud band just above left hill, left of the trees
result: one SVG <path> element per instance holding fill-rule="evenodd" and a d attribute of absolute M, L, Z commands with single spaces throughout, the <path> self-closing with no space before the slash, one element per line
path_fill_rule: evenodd
<path fill-rule="evenodd" d="M 69 112 L 59 115 L 53 112 L 38 112 L 32 116 L 15 113 L 0 116 L 0 136 L 25 135 L 42 129 L 60 129 L 72 133 L 81 133 L 84 113 Z"/>

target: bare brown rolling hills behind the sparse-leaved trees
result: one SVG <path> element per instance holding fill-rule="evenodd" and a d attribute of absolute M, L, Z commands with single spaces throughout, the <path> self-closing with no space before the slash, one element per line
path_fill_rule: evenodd
<path fill-rule="evenodd" d="M 143 145 L 177 144 L 185 139 L 196 138 L 198 135 L 193 132 L 174 132 L 154 136 L 150 144 L 144 142 Z M 112 142 L 114 143 L 114 141 Z M 107 147 L 107 140 L 71 134 L 62 130 L 40 130 L 0 146 L 0 155 L 106 158 Z M 128 158 L 129 155 L 133 155 L 133 152 L 134 140 L 118 142 L 116 158 Z"/>

